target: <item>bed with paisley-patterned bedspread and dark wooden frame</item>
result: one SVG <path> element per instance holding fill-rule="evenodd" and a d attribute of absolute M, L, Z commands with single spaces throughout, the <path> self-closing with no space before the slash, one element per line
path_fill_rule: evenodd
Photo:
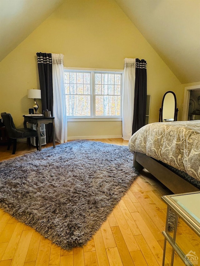
<path fill-rule="evenodd" d="M 145 125 L 128 147 L 134 167 L 146 168 L 173 193 L 200 190 L 200 120 Z"/>

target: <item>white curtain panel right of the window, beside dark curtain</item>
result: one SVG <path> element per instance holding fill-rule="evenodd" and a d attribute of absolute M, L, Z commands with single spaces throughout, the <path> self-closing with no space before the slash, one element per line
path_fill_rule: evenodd
<path fill-rule="evenodd" d="M 135 58 L 125 58 L 122 93 L 122 135 L 124 140 L 129 140 L 132 136 L 134 96 Z"/>

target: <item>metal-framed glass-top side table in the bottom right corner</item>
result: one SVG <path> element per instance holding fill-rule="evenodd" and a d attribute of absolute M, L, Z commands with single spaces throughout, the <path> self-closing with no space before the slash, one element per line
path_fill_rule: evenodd
<path fill-rule="evenodd" d="M 187 255 L 184 254 L 177 245 L 176 232 L 178 217 L 180 217 L 200 237 L 200 191 L 168 195 L 161 198 L 168 206 L 166 227 L 165 231 L 162 232 L 165 237 L 163 249 L 163 265 L 165 261 L 166 241 L 168 241 L 168 243 L 172 247 L 171 266 L 173 265 L 174 251 L 176 251 L 178 256 L 185 264 L 196 264 L 197 261 L 195 260 L 195 256 L 192 255 L 193 257 L 191 256 L 190 258 L 188 258 Z M 169 210 L 173 211 L 173 213 L 175 214 L 173 238 L 168 233 Z"/>

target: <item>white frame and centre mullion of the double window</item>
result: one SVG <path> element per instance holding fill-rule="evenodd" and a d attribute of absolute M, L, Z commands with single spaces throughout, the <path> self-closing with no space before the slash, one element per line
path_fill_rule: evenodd
<path fill-rule="evenodd" d="M 122 121 L 122 92 L 123 92 L 123 73 L 121 69 L 92 69 L 92 68 L 75 68 L 64 67 L 64 72 L 90 72 L 90 116 L 69 116 L 67 115 L 68 122 L 82 122 L 82 121 Z M 97 116 L 95 109 L 95 73 L 111 73 L 121 74 L 121 94 L 120 94 L 120 115 L 115 116 Z M 64 75 L 64 73 L 63 73 Z"/>

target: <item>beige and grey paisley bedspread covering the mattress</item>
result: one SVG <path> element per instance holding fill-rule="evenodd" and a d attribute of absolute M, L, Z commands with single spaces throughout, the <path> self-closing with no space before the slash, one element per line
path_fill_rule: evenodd
<path fill-rule="evenodd" d="M 200 120 L 145 125 L 133 134 L 128 147 L 200 181 Z"/>

